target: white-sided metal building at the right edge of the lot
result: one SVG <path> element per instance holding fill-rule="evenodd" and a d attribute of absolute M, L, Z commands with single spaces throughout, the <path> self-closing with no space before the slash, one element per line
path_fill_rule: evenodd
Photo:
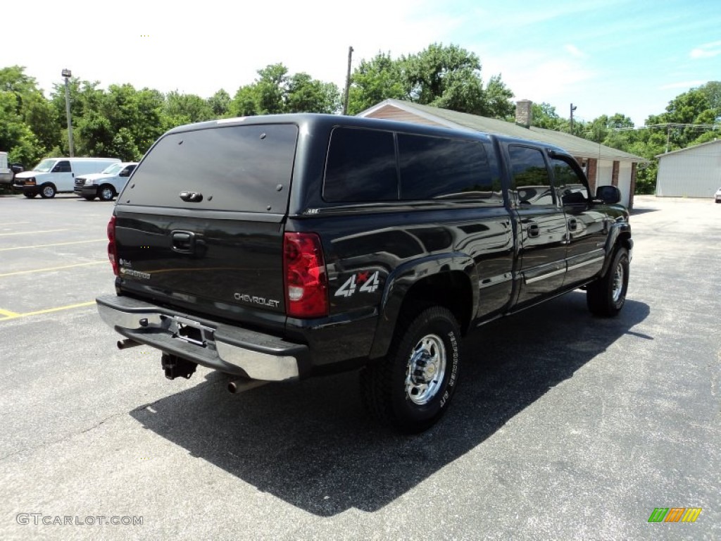
<path fill-rule="evenodd" d="M 656 195 L 712 198 L 721 186 L 721 141 L 659 154 Z"/>

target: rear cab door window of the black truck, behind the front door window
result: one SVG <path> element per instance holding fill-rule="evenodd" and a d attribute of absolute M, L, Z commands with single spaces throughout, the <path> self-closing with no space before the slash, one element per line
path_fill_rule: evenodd
<path fill-rule="evenodd" d="M 510 145 L 511 196 L 521 205 L 554 205 L 551 176 L 539 149 Z"/>

